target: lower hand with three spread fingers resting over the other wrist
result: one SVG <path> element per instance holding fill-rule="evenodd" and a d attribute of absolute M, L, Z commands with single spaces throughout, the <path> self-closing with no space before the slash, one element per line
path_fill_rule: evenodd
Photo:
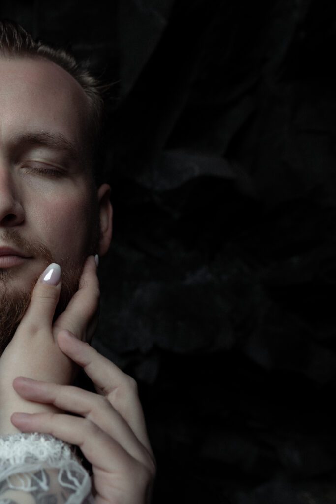
<path fill-rule="evenodd" d="M 84 368 L 98 394 L 17 377 L 13 386 L 22 398 L 81 416 L 14 413 L 12 423 L 23 432 L 49 433 L 79 446 L 92 464 L 96 504 L 147 504 L 155 459 L 135 381 L 69 332 L 60 331 L 57 341 Z"/>

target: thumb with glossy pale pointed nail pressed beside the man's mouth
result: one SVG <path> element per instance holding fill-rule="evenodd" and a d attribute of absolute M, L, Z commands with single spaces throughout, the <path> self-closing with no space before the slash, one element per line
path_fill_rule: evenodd
<path fill-rule="evenodd" d="M 50 264 L 40 275 L 33 290 L 21 324 L 32 324 L 38 329 L 51 327 L 61 288 L 61 271 L 58 264 Z"/>

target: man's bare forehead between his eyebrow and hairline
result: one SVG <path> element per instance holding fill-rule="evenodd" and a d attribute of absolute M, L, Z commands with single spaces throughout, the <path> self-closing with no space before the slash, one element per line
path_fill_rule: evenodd
<path fill-rule="evenodd" d="M 0 147 L 31 132 L 83 142 L 88 98 L 52 61 L 0 56 Z"/>

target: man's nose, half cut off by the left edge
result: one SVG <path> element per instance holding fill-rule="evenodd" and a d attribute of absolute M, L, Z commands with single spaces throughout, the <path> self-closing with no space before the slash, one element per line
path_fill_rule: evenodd
<path fill-rule="evenodd" d="M 23 222 L 24 210 L 18 193 L 10 170 L 0 167 L 0 228 L 18 226 Z"/>

